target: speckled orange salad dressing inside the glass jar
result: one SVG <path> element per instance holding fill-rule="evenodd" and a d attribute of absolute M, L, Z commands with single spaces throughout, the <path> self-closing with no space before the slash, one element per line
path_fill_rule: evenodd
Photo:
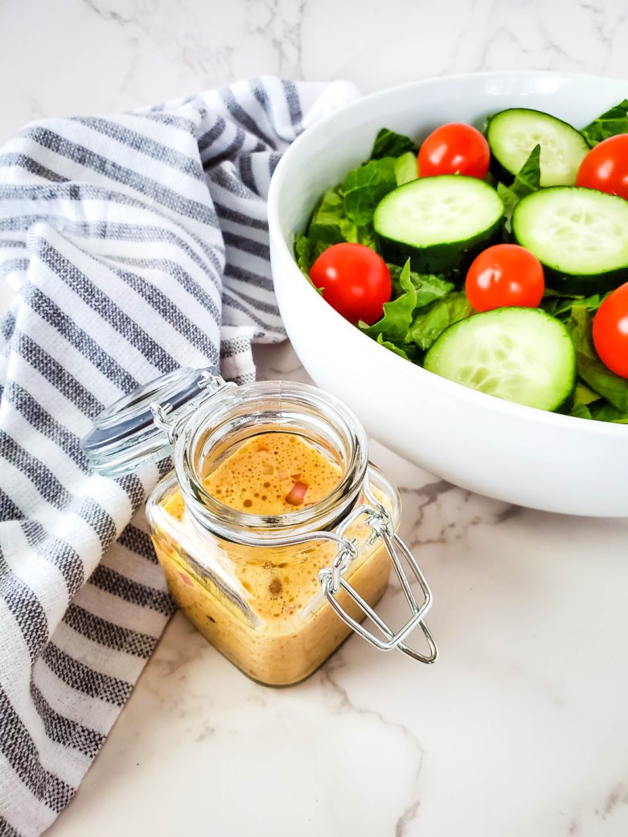
<path fill-rule="evenodd" d="M 276 516 L 321 501 L 341 479 L 339 465 L 305 439 L 265 433 L 229 454 L 208 473 L 204 487 L 237 511 Z M 381 496 L 378 500 L 385 502 Z M 162 509 L 165 525 L 156 521 L 153 542 L 172 597 L 246 674 L 274 685 L 302 680 L 345 639 L 350 629 L 322 598 L 318 582 L 319 570 L 337 552 L 333 543 L 251 547 L 211 535 L 188 542 L 190 523 L 181 492 L 164 497 Z M 346 533 L 358 543 L 368 534 L 363 519 Z M 388 583 L 389 558 L 382 549 L 364 546 L 346 576 L 374 604 Z M 338 598 L 358 618 L 347 595 L 341 591 Z"/>

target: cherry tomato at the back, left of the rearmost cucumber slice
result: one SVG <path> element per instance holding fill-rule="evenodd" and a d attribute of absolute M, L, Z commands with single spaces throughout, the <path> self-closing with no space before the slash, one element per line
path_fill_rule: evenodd
<path fill-rule="evenodd" d="M 419 151 L 421 177 L 437 174 L 465 174 L 482 180 L 488 172 L 491 151 L 471 125 L 450 122 L 432 131 Z"/>

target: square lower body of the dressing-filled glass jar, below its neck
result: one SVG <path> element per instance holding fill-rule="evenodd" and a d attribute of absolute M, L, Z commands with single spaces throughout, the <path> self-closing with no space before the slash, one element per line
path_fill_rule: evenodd
<path fill-rule="evenodd" d="M 379 471 L 369 472 L 373 493 L 396 527 L 399 494 Z M 334 542 L 311 540 L 283 547 L 230 542 L 195 524 L 173 472 L 153 491 L 147 519 L 172 598 L 253 680 L 269 686 L 304 680 L 352 633 L 318 581 L 337 553 Z M 381 543 L 368 543 L 371 530 L 364 521 L 355 521 L 346 535 L 356 539 L 357 555 L 345 578 L 374 607 L 389 583 L 389 556 Z M 363 616 L 342 590 L 338 601 L 353 619 Z"/>

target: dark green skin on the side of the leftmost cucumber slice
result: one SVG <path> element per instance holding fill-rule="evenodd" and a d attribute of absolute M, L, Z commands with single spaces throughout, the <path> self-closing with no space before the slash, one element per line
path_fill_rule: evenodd
<path fill-rule="evenodd" d="M 406 259 L 410 259 L 410 267 L 417 273 L 448 273 L 451 270 L 466 270 L 482 250 L 491 244 L 499 244 L 502 228 L 503 218 L 498 218 L 492 227 L 471 239 L 433 244 L 431 247 L 412 247 L 381 234 L 378 234 L 378 241 L 384 261 L 405 264 Z"/>

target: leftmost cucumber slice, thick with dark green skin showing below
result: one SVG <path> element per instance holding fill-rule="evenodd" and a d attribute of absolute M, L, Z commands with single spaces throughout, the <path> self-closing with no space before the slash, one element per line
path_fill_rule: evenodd
<path fill-rule="evenodd" d="M 503 212 L 502 198 L 476 177 L 420 177 L 382 198 L 373 226 L 387 261 L 446 273 L 499 239 Z"/>

